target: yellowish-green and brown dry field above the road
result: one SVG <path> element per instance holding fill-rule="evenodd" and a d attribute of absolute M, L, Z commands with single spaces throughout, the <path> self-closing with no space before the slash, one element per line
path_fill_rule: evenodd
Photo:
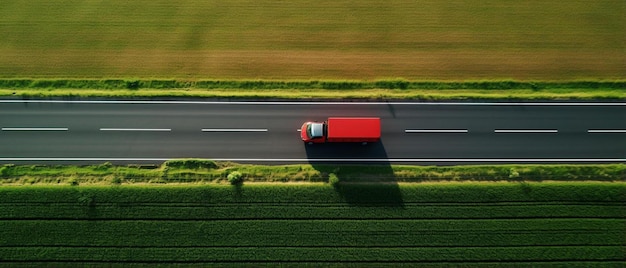
<path fill-rule="evenodd" d="M 0 77 L 623 79 L 624 14 L 623 0 L 4 0 Z"/>

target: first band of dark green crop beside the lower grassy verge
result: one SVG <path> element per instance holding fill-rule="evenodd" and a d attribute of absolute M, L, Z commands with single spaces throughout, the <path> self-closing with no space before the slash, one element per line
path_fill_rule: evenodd
<path fill-rule="evenodd" d="M 361 199 L 359 199 L 361 198 Z M 482 202 L 626 202 L 624 182 L 441 182 L 415 184 L 249 184 L 128 186 L 2 186 L 0 200 L 103 203 L 313 203 L 395 205 Z M 380 201 L 380 202 L 379 202 Z M 91 202 L 91 201 L 90 201 Z"/>

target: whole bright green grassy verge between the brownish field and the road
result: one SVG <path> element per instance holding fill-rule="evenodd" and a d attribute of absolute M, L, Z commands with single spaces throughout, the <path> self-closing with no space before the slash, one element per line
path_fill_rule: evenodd
<path fill-rule="evenodd" d="M 242 99 L 624 99 L 626 82 L 612 81 L 277 81 L 1 79 L 0 96 L 206 97 Z"/>

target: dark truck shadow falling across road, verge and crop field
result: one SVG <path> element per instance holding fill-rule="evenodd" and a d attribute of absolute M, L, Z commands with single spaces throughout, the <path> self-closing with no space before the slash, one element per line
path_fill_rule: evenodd
<path fill-rule="evenodd" d="M 309 163 L 323 176 L 338 178 L 333 186 L 352 206 L 404 207 L 402 193 L 383 142 L 304 144 Z"/>

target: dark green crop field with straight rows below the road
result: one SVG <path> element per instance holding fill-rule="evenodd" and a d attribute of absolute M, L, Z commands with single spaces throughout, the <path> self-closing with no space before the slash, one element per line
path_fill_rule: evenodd
<path fill-rule="evenodd" d="M 342 187 L 3 186 L 0 265 L 625 263 L 623 182 Z"/>

